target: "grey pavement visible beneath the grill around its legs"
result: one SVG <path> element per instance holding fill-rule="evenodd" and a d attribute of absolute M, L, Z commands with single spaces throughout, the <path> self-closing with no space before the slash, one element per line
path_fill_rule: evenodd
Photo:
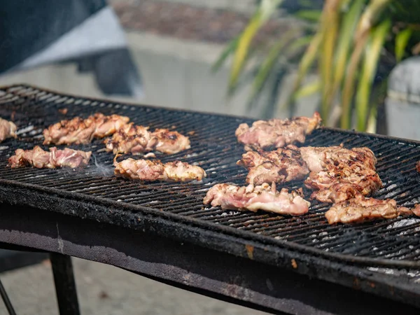
<path fill-rule="evenodd" d="M 73 258 L 82 315 L 263 315 L 266 313 L 190 293 L 123 269 Z M 49 260 L 0 274 L 19 315 L 58 315 Z M 0 314 L 7 314 L 0 301 Z"/>

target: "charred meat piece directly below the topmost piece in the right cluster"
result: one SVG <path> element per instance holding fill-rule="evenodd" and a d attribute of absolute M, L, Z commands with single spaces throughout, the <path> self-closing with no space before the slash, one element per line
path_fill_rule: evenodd
<path fill-rule="evenodd" d="M 242 155 L 237 165 L 248 169 L 246 183 L 254 185 L 304 179 L 309 173 L 299 148 L 291 144 L 276 151 L 248 151 Z"/>

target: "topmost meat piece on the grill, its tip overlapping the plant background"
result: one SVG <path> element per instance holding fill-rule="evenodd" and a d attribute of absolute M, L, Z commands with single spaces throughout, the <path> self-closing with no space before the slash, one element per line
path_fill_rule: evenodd
<path fill-rule="evenodd" d="M 307 134 L 321 124 L 321 116 L 315 112 L 312 118 L 270 119 L 255 121 L 251 127 L 241 124 L 235 135 L 246 151 L 266 148 L 283 148 L 296 142 L 304 143 Z"/>

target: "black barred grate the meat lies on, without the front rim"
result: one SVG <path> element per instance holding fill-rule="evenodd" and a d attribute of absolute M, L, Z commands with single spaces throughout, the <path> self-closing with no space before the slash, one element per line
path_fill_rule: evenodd
<path fill-rule="evenodd" d="M 58 109 L 68 109 L 66 115 Z M 86 169 L 10 169 L 7 160 L 16 148 L 42 146 L 42 131 L 58 120 L 92 113 L 118 113 L 134 123 L 175 128 L 188 134 L 191 148 L 176 155 L 159 155 L 162 161 L 183 160 L 203 167 L 208 177 L 202 183 L 142 183 L 113 177 L 113 155 L 104 151 L 102 141 L 89 146 L 71 146 L 92 151 L 93 159 Z M 198 228 L 235 235 L 264 244 L 288 248 L 341 262 L 367 265 L 372 271 L 388 272 L 389 268 L 409 268 L 403 273 L 411 281 L 420 279 L 420 218 L 396 218 L 356 225 L 328 225 L 323 204 L 312 202 L 309 214 L 287 217 L 251 212 L 222 211 L 207 208 L 202 200 L 216 183 L 244 184 L 246 170 L 236 165 L 243 146 L 237 143 L 235 130 L 239 123 L 252 123 L 246 118 L 205 113 L 173 111 L 148 106 L 132 106 L 83 99 L 48 92 L 29 86 L 0 88 L 0 116 L 14 119 L 20 139 L 0 144 L 0 186 L 29 188 L 41 194 L 59 195 L 91 204 L 103 204 L 110 211 L 106 218 L 136 228 L 140 214 L 165 216 L 187 222 Z M 343 143 L 346 148 L 367 146 L 377 156 L 377 171 L 384 188 L 374 197 L 395 198 L 400 205 L 412 206 L 419 201 L 420 175 L 415 164 L 420 160 L 420 144 L 367 134 L 321 128 L 307 137 L 305 145 L 332 146 Z M 42 146 L 46 148 L 45 146 Z M 302 182 L 287 187 L 298 188 Z M 11 198 L 11 197 L 10 197 Z M 35 198 L 36 199 L 36 198 Z M 36 200 L 35 200 L 36 202 Z M 69 209 L 53 207 L 69 213 Z M 63 208 L 63 207 L 62 207 Z M 93 211 L 94 212 L 94 211 Z M 72 209 L 71 214 L 95 217 L 95 214 Z M 102 217 L 96 216 L 98 220 Z M 128 218 L 128 219 L 127 219 Z M 382 269 L 381 269 L 382 268 Z"/>

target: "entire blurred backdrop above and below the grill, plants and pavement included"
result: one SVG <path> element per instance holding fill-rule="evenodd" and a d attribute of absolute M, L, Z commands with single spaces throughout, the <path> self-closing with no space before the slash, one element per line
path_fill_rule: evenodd
<path fill-rule="evenodd" d="M 320 111 L 420 139 L 416 0 L 15 0 L 0 13 L 0 85 L 253 118 Z M 74 261 L 83 314 L 262 314 Z M 48 262 L 1 279 L 18 314 L 57 314 Z"/>

